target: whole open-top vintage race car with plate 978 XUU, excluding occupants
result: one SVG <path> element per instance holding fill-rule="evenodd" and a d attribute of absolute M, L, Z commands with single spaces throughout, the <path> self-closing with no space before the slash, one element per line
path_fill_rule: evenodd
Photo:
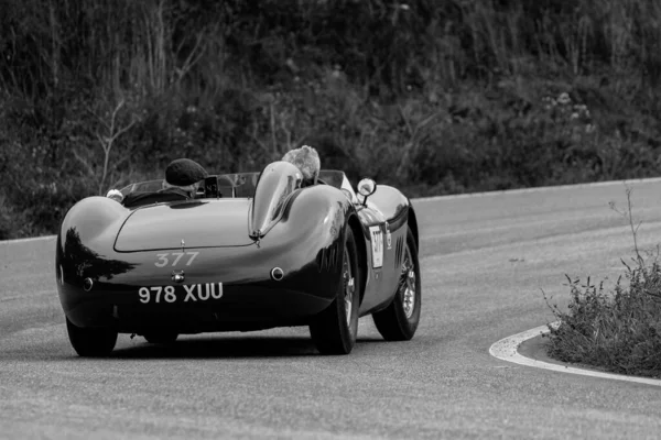
<path fill-rule="evenodd" d="M 180 334 L 310 326 L 324 354 L 346 354 L 358 318 L 409 340 L 421 310 L 419 233 L 410 200 L 339 170 L 301 187 L 286 162 L 210 176 L 192 199 L 162 180 L 121 202 L 88 197 L 57 237 L 56 280 L 72 345 L 109 354 L 118 333 Z"/>

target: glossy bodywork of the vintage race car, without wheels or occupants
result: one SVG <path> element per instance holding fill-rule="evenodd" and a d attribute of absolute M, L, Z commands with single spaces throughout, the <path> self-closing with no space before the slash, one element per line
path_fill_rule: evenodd
<path fill-rule="evenodd" d="M 62 223 L 55 262 L 68 321 L 137 334 L 308 324 L 342 287 L 347 228 L 358 242 L 360 315 L 388 306 L 408 199 L 384 187 L 392 199 L 384 218 L 339 184 L 296 187 L 295 168 L 281 164 L 264 169 L 252 197 L 221 197 L 228 193 L 214 188 L 215 197 L 194 200 L 76 204 Z M 387 245 L 378 264 L 375 231 Z"/>

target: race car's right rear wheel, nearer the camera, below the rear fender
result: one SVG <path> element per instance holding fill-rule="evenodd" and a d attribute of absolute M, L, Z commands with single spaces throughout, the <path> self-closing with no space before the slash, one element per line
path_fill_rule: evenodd
<path fill-rule="evenodd" d="M 342 282 L 335 300 L 310 324 L 310 334 L 322 354 L 349 354 L 358 334 L 360 273 L 358 249 L 350 227 L 345 230 Z"/>

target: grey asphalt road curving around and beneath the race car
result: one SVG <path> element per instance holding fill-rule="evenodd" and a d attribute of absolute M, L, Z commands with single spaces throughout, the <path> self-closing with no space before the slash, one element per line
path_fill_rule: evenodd
<path fill-rule="evenodd" d="M 661 242 L 661 183 L 633 184 L 639 245 Z M 77 358 L 55 290 L 53 239 L 0 242 L 0 438 L 658 438 L 661 388 L 510 364 L 507 336 L 553 321 L 565 274 L 622 273 L 622 184 L 418 200 L 423 314 L 410 342 L 370 318 L 348 356 L 306 329 L 120 336 Z"/>

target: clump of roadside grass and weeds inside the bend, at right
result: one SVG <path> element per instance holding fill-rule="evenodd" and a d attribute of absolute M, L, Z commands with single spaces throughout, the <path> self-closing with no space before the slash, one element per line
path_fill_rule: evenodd
<path fill-rule="evenodd" d="M 604 282 L 581 282 L 567 276 L 566 310 L 551 308 L 560 326 L 549 326 L 551 358 L 603 371 L 661 377 L 661 264 L 659 250 L 638 249 L 631 215 L 631 190 L 627 190 L 626 216 L 631 228 L 635 255 L 622 260 L 624 274 L 613 289 Z"/>

